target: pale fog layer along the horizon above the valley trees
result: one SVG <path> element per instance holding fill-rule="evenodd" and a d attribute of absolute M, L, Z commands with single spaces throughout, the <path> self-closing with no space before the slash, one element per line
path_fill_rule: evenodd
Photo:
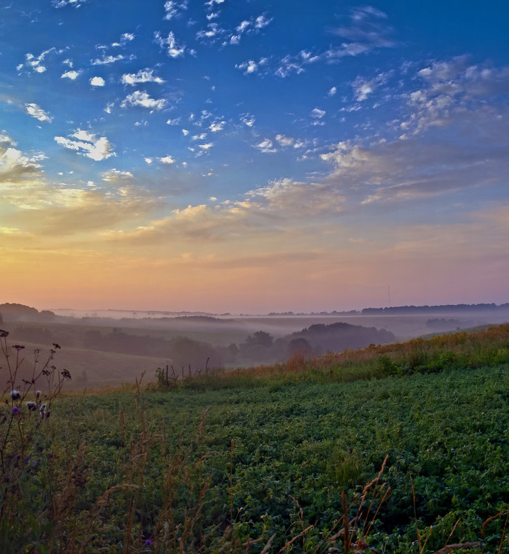
<path fill-rule="evenodd" d="M 405 340 L 434 332 L 468 329 L 509 320 L 509 304 L 458 304 L 445 306 L 391 306 L 363 308 L 360 311 L 329 313 L 270 313 L 268 315 L 231 315 L 205 312 L 172 311 L 77 311 L 59 309 L 37 311 L 22 304 L 0 304 L 7 322 L 44 322 L 65 325 L 120 327 L 170 333 L 209 333 L 217 344 L 228 344 L 228 335 L 246 335 L 259 330 L 276 338 L 312 324 L 344 322 L 387 329 L 396 340 Z M 224 336 L 223 336 L 224 335 Z M 223 336 L 223 338 L 221 338 Z M 238 336 L 235 337 L 239 339 Z"/>

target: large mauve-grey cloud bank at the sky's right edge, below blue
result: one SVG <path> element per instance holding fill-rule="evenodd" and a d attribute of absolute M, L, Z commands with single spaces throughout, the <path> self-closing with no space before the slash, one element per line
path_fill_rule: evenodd
<path fill-rule="evenodd" d="M 322 160 L 335 167 L 331 182 L 341 183 L 360 203 L 401 203 L 500 186 L 508 174 L 509 111 L 501 104 L 468 107 L 457 98 L 438 111 L 429 104 L 407 127 L 405 138 L 371 145 L 340 142 Z M 419 108 L 420 109 L 420 108 Z M 425 118 L 425 122 L 420 119 Z M 476 129 L 472 138 L 471 129 Z M 468 145 L 454 139 L 470 133 Z M 418 156 L 415 154 L 418 152 Z M 362 198 L 362 196 L 364 196 Z"/>

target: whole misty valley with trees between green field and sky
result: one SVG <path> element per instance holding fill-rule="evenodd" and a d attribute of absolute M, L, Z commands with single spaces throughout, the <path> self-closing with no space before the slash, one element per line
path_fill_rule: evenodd
<path fill-rule="evenodd" d="M 470 310 L 439 306 L 436 311 L 426 306 L 423 313 L 415 313 L 415 306 L 369 308 L 342 315 L 170 316 L 158 312 L 158 317 L 148 317 L 147 313 L 154 312 L 131 312 L 125 317 L 126 312 L 115 312 L 122 315 L 115 319 L 100 313 L 74 317 L 21 304 L 0 304 L 0 329 L 10 332 L 11 344 L 26 345 L 27 367 L 30 349 L 61 345 L 56 364 L 71 371 L 73 380 L 68 388 L 79 389 L 133 382 L 142 371 L 145 380 L 154 380 L 158 367 L 168 367 L 170 374 L 174 371 L 178 376 L 203 373 L 205 368 L 250 367 L 284 362 L 296 351 L 315 357 L 326 351 L 509 320 L 508 304 L 479 306 Z"/>

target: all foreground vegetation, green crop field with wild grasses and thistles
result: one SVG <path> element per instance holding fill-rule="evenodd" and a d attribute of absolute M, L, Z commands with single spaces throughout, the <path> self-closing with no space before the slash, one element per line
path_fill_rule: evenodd
<path fill-rule="evenodd" d="M 507 324 L 65 398 L 1 340 L 2 552 L 508 551 Z"/>

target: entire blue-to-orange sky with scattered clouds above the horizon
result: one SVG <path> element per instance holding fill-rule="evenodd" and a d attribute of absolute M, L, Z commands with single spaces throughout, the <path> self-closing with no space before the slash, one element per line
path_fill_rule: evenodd
<path fill-rule="evenodd" d="M 509 302 L 507 21 L 505 0 L 2 2 L 2 301 Z"/>

